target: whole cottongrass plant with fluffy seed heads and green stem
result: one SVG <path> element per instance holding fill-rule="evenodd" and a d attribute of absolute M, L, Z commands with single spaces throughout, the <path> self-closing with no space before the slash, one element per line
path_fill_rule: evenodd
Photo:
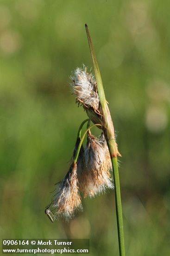
<path fill-rule="evenodd" d="M 51 222 L 57 216 L 63 216 L 66 220 L 69 220 L 77 210 L 82 210 L 80 192 L 84 197 L 93 197 L 106 192 L 107 189 L 115 188 L 119 251 L 120 256 L 125 256 L 117 160 L 120 153 L 115 141 L 113 122 L 107 106 L 92 40 L 88 26 L 85 27 L 96 80 L 91 72 L 87 72 L 85 66 L 78 67 L 72 76 L 71 86 L 76 95 L 76 103 L 83 106 L 89 119 L 84 120 L 80 125 L 69 170 L 57 185 L 56 194 L 50 205 L 46 207 L 45 213 Z M 91 126 L 90 121 L 94 123 Z M 87 129 L 81 136 L 82 127 L 86 122 L 88 122 Z M 94 126 L 101 129 L 99 139 L 91 133 Z M 82 142 L 86 135 L 87 143 L 84 148 Z M 114 186 L 110 174 L 111 169 L 113 170 Z"/>

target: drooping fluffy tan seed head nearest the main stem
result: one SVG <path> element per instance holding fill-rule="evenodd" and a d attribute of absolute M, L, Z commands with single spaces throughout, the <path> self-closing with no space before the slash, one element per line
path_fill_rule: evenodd
<path fill-rule="evenodd" d="M 84 166 L 81 173 L 78 170 L 80 188 L 85 197 L 102 193 L 107 188 L 113 189 L 109 168 L 110 162 L 108 162 L 108 154 L 103 142 L 88 132 Z"/>

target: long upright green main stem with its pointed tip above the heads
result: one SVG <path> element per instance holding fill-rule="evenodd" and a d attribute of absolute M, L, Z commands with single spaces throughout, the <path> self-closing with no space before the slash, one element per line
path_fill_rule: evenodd
<path fill-rule="evenodd" d="M 115 186 L 115 202 L 116 202 L 116 216 L 117 216 L 117 227 L 118 227 L 118 239 L 119 239 L 119 253 L 120 256 L 125 256 L 125 243 L 124 243 L 124 233 L 123 233 L 123 217 L 122 217 L 122 207 L 121 207 L 121 196 L 120 196 L 120 181 L 119 181 L 119 170 L 118 170 L 118 162 L 117 162 L 117 155 L 119 154 L 117 144 L 115 141 L 114 136 L 114 127 L 113 127 L 113 121 L 110 115 L 109 108 L 107 106 L 107 101 L 103 89 L 103 84 L 101 80 L 101 74 L 98 66 L 98 62 L 96 59 L 94 47 L 92 44 L 92 40 L 90 37 L 90 33 L 88 30 L 87 24 L 86 27 L 86 33 L 88 36 L 88 44 L 90 47 L 90 53 L 92 56 L 92 61 L 94 65 L 94 73 L 95 78 L 97 81 L 97 89 L 99 93 L 99 98 L 101 102 L 101 110 L 102 110 L 102 119 L 104 126 L 102 127 L 106 141 L 107 146 L 110 152 L 110 157 L 112 161 L 112 167 L 113 167 L 113 177 L 114 177 L 114 186 Z"/>

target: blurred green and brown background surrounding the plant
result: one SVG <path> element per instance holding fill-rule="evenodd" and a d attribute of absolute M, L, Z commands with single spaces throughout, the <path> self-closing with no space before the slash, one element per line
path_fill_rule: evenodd
<path fill-rule="evenodd" d="M 86 118 L 69 87 L 94 43 L 117 131 L 126 256 L 170 252 L 170 2 L 0 0 L 0 235 L 89 238 L 119 255 L 114 191 L 44 214 Z M 98 134 L 97 129 L 93 130 Z"/>

